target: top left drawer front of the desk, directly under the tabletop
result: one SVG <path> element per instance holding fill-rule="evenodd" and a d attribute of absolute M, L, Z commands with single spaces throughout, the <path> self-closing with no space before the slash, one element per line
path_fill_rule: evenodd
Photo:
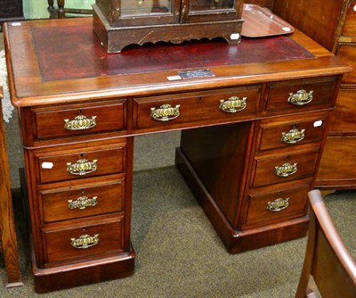
<path fill-rule="evenodd" d="M 35 140 L 125 129 L 125 100 L 33 109 Z"/>

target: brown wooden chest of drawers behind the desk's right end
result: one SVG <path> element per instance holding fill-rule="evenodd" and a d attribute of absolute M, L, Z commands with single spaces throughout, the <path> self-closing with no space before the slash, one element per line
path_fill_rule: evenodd
<path fill-rule="evenodd" d="M 344 75 L 330 116 L 315 187 L 356 188 L 356 1 L 274 0 L 273 12 L 353 68 Z"/>

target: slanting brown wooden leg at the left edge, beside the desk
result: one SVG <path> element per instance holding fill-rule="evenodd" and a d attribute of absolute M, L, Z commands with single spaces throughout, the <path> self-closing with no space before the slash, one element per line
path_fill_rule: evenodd
<path fill-rule="evenodd" d="M 0 252 L 4 254 L 7 283 L 6 287 L 22 286 L 17 238 L 13 219 L 12 194 L 9 165 L 6 155 L 4 121 L 0 87 Z"/>

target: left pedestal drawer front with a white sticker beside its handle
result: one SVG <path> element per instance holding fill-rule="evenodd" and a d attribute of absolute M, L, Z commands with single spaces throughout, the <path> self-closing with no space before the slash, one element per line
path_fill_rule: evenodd
<path fill-rule="evenodd" d="M 81 179 L 125 171 L 125 146 L 61 151 L 36 156 L 41 183 Z"/>

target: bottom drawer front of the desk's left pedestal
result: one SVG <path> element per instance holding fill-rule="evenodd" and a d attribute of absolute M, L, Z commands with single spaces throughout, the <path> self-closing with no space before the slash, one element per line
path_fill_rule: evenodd
<path fill-rule="evenodd" d="M 44 228 L 47 261 L 69 261 L 105 252 L 123 252 L 124 217 L 78 227 Z"/>

